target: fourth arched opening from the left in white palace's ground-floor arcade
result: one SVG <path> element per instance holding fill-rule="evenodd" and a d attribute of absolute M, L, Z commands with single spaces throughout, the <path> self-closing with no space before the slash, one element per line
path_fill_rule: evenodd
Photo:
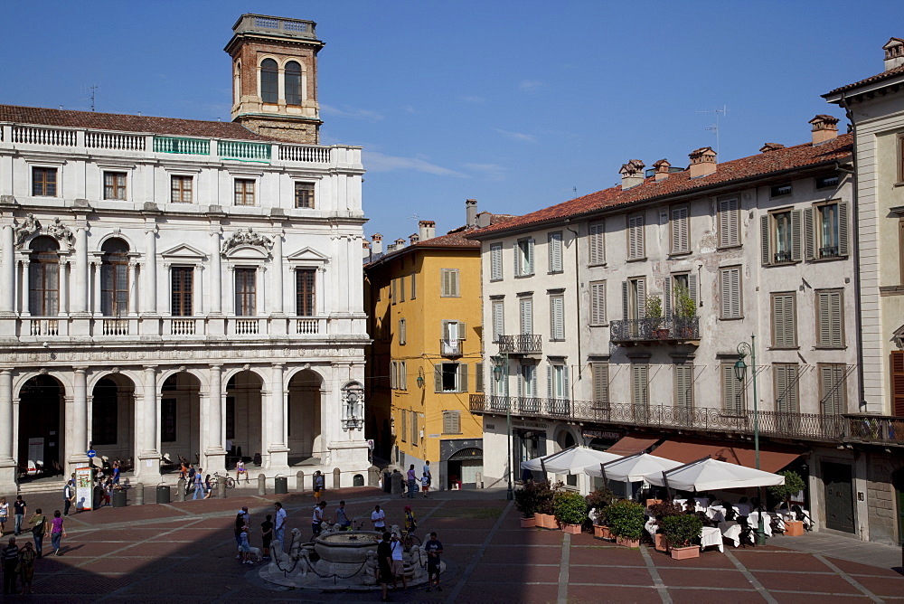
<path fill-rule="evenodd" d="M 243 371 L 226 382 L 226 438 L 237 458 L 262 464 L 266 454 L 261 438 L 261 391 L 264 382 L 257 373 Z"/>

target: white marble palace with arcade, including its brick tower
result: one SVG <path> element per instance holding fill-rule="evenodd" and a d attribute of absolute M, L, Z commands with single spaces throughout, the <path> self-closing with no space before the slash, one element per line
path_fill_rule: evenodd
<path fill-rule="evenodd" d="M 0 106 L 0 492 L 89 447 L 366 476 L 361 148 L 314 23 L 233 30 L 232 122 Z"/>

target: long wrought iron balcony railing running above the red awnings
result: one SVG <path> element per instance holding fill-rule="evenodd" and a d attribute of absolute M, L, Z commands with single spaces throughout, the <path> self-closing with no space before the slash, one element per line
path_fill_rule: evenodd
<path fill-rule="evenodd" d="M 753 411 L 685 408 L 670 405 L 607 404 L 534 397 L 472 394 L 472 413 L 505 413 L 523 418 L 595 421 L 602 424 L 659 429 L 700 430 L 753 434 Z M 904 445 L 904 418 L 886 416 L 823 415 L 759 411 L 759 433 L 767 437 L 821 442 L 870 442 Z"/>

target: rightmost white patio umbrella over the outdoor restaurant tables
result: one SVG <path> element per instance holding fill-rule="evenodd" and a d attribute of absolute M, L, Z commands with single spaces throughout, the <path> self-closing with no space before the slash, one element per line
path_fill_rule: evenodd
<path fill-rule="evenodd" d="M 697 492 L 785 484 L 783 476 L 711 458 L 652 472 L 644 478 L 654 485 Z"/>

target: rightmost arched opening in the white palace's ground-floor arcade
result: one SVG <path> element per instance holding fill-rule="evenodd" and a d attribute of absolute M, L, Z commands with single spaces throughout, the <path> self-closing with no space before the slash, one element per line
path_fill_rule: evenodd
<path fill-rule="evenodd" d="M 304 370 L 288 382 L 288 463 L 289 466 L 311 458 L 322 458 L 320 434 L 320 389 L 317 373 Z"/>

